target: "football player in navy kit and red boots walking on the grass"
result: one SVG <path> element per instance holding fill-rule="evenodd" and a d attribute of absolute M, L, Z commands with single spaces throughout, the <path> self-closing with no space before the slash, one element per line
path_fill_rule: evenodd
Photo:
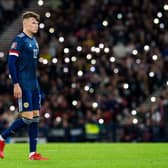
<path fill-rule="evenodd" d="M 28 126 L 29 159 L 48 160 L 36 152 L 41 95 L 36 76 L 39 47 L 34 34 L 38 31 L 39 19 L 40 16 L 32 11 L 23 14 L 23 31 L 16 35 L 9 50 L 8 67 L 21 118 L 0 135 L 0 158 L 4 158 L 5 140 L 20 128 Z"/>

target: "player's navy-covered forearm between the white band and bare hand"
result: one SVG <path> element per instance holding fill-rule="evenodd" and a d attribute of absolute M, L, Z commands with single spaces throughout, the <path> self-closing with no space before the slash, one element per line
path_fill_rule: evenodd
<path fill-rule="evenodd" d="M 18 83 L 18 77 L 17 77 L 17 71 L 16 71 L 16 60 L 17 58 L 15 56 L 8 57 L 8 68 L 9 68 L 9 73 L 11 75 L 13 84 Z"/>

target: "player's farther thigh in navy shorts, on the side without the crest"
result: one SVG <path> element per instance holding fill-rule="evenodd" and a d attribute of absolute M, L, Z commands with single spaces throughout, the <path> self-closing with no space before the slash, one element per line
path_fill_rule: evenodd
<path fill-rule="evenodd" d="M 32 108 L 33 108 L 33 115 L 39 116 L 39 110 L 41 107 L 41 94 L 40 91 L 34 90 L 32 96 Z"/>

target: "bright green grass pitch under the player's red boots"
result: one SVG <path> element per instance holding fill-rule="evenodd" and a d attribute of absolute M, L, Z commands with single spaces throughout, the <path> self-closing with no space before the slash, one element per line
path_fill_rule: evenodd
<path fill-rule="evenodd" d="M 30 161 L 28 144 L 9 144 L 0 168 L 167 168 L 168 144 L 39 144 L 48 161 Z"/>

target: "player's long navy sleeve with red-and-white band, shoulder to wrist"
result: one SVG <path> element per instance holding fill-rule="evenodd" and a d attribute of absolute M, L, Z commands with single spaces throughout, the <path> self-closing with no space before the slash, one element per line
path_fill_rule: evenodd
<path fill-rule="evenodd" d="M 16 70 L 16 62 L 20 55 L 22 47 L 21 38 L 15 38 L 11 44 L 9 55 L 8 55 L 8 68 L 11 75 L 13 84 L 18 83 L 18 76 Z"/>

